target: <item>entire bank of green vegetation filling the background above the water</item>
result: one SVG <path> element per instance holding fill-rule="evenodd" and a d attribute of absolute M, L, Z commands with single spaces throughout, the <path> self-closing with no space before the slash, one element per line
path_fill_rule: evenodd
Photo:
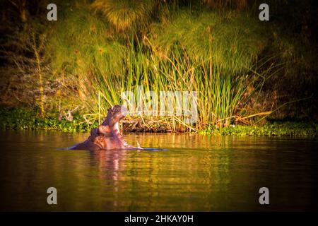
<path fill-rule="evenodd" d="M 87 131 L 108 107 L 123 103 L 122 92 L 137 98 L 139 87 L 143 94 L 187 90 L 198 95 L 195 124 L 175 115 L 126 118 L 142 121 L 138 126 L 145 131 L 215 133 L 219 129 L 213 128 L 220 128 L 222 134 L 265 134 L 266 129 L 249 129 L 269 115 L 317 119 L 317 52 L 310 32 L 295 32 L 293 23 L 284 30 L 279 16 L 293 8 L 288 3 L 271 3 L 276 16 L 271 26 L 258 19 L 257 3 L 246 0 L 57 5 L 54 23 L 42 20 L 45 3 L 8 4 L 19 6 L 14 19 L 3 13 L 12 22 L 1 27 L 7 34 L 0 40 L 5 60 L 1 128 Z M 37 12 L 31 10 L 35 6 Z M 305 29 L 310 20 L 301 18 Z M 143 95 L 143 102 L 148 100 Z M 76 107 L 73 121 L 59 120 Z M 232 124 L 235 128 L 228 127 Z"/>

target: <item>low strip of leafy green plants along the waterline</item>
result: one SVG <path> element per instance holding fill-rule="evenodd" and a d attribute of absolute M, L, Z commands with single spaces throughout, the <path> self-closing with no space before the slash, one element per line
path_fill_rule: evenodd
<path fill-rule="evenodd" d="M 164 125 L 154 126 L 149 130 L 146 126 L 139 124 L 138 128 L 124 124 L 126 132 L 169 132 Z M 65 132 L 88 132 L 98 126 L 98 121 L 88 121 L 80 114 L 72 116 L 71 120 L 66 117 L 59 119 L 59 113 L 49 113 L 44 118 L 38 117 L 36 112 L 29 109 L 13 108 L 0 109 L 1 130 L 56 130 Z M 308 121 L 267 121 L 263 126 L 232 125 L 225 128 L 208 126 L 207 129 L 199 131 L 204 135 L 219 136 L 318 136 L 318 123 Z"/>

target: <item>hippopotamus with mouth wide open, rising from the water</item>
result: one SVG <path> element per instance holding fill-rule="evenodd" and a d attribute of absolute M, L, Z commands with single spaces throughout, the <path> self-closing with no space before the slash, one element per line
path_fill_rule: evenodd
<path fill-rule="evenodd" d="M 115 149 L 143 149 L 129 145 L 124 141 L 119 131 L 119 121 L 126 116 L 126 108 L 114 105 L 108 109 L 107 117 L 97 129 L 91 129 L 90 136 L 83 143 L 67 148 L 68 150 L 115 150 Z"/>

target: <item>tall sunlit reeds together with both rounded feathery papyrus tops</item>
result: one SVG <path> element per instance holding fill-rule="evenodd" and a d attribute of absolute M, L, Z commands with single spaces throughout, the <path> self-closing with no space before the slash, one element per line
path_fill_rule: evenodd
<path fill-rule="evenodd" d="M 179 10 L 168 18 L 151 23 L 147 34 L 131 34 L 129 41 L 86 8 L 64 18 L 66 28 L 58 27 L 52 37 L 59 49 L 53 63 L 76 74 L 88 121 L 122 103 L 125 90 L 137 98 L 141 86 L 143 94 L 158 96 L 160 91 L 195 91 L 198 100 L 195 124 L 184 124 L 187 116 L 142 114 L 146 126 L 161 121 L 171 130 L 196 131 L 211 124 L 228 126 L 240 115 L 239 107 L 252 95 L 247 88 L 265 79 L 252 70 L 266 44 L 262 26 L 232 11 L 192 15 Z"/>

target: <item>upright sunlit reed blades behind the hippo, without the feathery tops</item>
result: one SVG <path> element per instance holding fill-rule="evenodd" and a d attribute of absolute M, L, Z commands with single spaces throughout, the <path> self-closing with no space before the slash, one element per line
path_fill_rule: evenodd
<path fill-rule="evenodd" d="M 198 62 L 189 57 L 184 50 L 174 49 L 169 57 L 161 59 L 161 56 L 151 48 L 151 44 L 145 46 L 140 42 L 136 47 L 131 44 L 127 54 L 127 68 L 123 71 L 126 72 L 126 76 L 120 78 L 107 75 L 96 67 L 95 80 L 87 84 L 91 87 L 87 88 L 90 90 L 89 95 L 96 101 L 98 100 L 96 95 L 101 93 L 100 101 L 104 102 L 101 106 L 110 106 L 122 102 L 120 94 L 124 90 L 131 91 L 137 98 L 140 85 L 142 85 L 143 104 L 148 102 L 146 99 L 148 91 L 155 92 L 157 96 L 160 95 L 160 91 L 195 91 L 198 97 L 199 116 L 196 124 L 182 123 L 183 116 L 166 117 L 172 130 L 177 130 L 176 128 L 180 126 L 182 130 L 203 129 L 209 124 L 228 126 L 233 115 L 240 114 L 237 106 L 249 98 L 245 93 L 247 87 L 254 83 L 250 71 L 237 74 L 231 69 L 224 69 L 224 65 L 213 64 L 213 56 L 206 61 Z M 90 102 L 91 104 L 94 102 Z M 177 103 L 174 107 L 177 108 Z M 95 106 L 90 108 L 99 109 Z M 102 114 L 106 114 L 106 109 L 107 107 L 102 108 Z M 147 112 L 143 112 L 143 117 L 145 114 Z M 146 118 L 153 119 L 153 117 Z"/>

